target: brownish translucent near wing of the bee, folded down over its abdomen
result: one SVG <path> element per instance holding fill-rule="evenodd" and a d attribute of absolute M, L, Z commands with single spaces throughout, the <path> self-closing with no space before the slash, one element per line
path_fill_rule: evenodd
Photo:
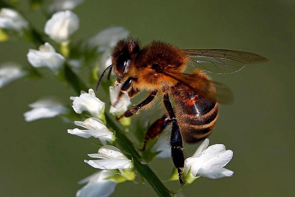
<path fill-rule="evenodd" d="M 195 74 L 176 73 L 163 71 L 163 73 L 179 83 L 186 85 L 194 92 L 207 100 L 219 102 L 222 104 L 231 104 L 234 96 L 230 88 L 222 83 L 204 79 Z"/>

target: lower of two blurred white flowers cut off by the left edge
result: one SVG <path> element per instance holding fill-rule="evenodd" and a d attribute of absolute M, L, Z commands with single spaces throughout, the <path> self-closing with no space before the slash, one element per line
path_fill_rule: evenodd
<path fill-rule="evenodd" d="M 21 78 L 26 75 L 27 71 L 21 69 L 21 67 L 14 63 L 4 63 L 0 67 L 0 88 L 9 82 Z"/>

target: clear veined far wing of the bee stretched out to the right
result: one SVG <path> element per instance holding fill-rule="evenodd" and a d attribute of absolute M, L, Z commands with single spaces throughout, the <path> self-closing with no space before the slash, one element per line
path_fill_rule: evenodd
<path fill-rule="evenodd" d="M 183 49 L 191 62 L 200 70 L 215 74 L 230 74 L 240 71 L 245 64 L 262 64 L 268 61 L 255 53 L 225 49 Z"/>

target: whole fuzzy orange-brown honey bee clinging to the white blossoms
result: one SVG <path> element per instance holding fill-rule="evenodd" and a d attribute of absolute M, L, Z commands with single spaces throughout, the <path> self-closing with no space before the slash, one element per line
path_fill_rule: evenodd
<path fill-rule="evenodd" d="M 229 87 L 210 80 L 202 71 L 233 73 L 241 70 L 245 64 L 267 61 L 255 53 L 221 49 L 180 49 L 162 41 L 153 41 L 141 47 L 139 40 L 133 37 L 119 40 L 111 57 L 112 65 L 102 73 L 96 90 L 104 74 L 112 69 L 117 76 L 116 83 L 122 85 L 113 106 L 126 92 L 129 97 L 143 89 L 150 92 L 147 98 L 129 108 L 117 120 L 136 114 L 152 102 L 158 93 L 163 95 L 167 112 L 150 126 L 141 151 L 145 150 L 148 140 L 159 136 L 170 124 L 168 144 L 181 184 L 185 184 L 182 180 L 184 141 L 193 143 L 208 136 L 216 123 L 219 103 L 228 104 L 233 101 Z M 197 68 L 185 73 L 189 63 Z M 174 98 L 174 108 L 169 95 Z"/>

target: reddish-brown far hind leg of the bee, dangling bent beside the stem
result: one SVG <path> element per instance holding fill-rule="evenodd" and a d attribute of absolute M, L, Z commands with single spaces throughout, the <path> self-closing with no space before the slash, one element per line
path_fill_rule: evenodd
<path fill-rule="evenodd" d="M 163 116 L 155 121 L 149 128 L 147 133 L 145 134 L 145 139 L 143 141 L 143 147 L 140 151 L 145 151 L 146 145 L 149 140 L 154 139 L 162 133 L 165 127 L 170 123 L 170 119 L 167 116 Z"/>

